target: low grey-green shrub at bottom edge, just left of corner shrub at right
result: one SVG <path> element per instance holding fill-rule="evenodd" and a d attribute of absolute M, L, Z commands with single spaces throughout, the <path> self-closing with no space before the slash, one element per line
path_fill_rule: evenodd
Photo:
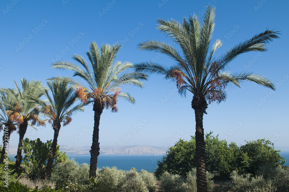
<path fill-rule="evenodd" d="M 232 191 L 234 192 L 274 192 L 272 188 L 272 182 L 270 180 L 263 179 L 262 176 L 251 177 L 240 176 L 237 171 L 231 173 L 232 179 Z"/>

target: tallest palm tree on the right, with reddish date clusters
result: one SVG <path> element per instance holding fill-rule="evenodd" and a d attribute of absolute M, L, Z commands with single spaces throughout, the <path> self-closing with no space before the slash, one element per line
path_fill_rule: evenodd
<path fill-rule="evenodd" d="M 275 90 L 274 85 L 266 77 L 254 73 L 230 73 L 226 71 L 227 64 L 241 53 L 249 51 L 266 51 L 266 43 L 278 38 L 277 32 L 266 30 L 249 40 L 239 43 L 218 58 L 213 54 L 222 46 L 217 39 L 210 49 L 214 31 L 215 7 L 208 5 L 203 19 L 203 25 L 197 15 L 186 17 L 182 23 L 176 20 L 164 21 L 158 19 L 156 27 L 160 32 L 173 39 L 179 45 L 180 52 L 168 43 L 158 40 L 147 40 L 138 44 L 139 50 L 164 53 L 177 64 L 171 67 L 154 62 L 135 64 L 136 72 L 164 75 L 165 79 L 176 82 L 179 94 L 186 96 L 186 91 L 192 93 L 192 109 L 196 120 L 196 161 L 197 161 L 197 191 L 207 191 L 206 157 L 203 130 L 203 114 L 213 101 L 220 103 L 226 98 L 226 87 L 229 83 L 240 87 L 244 81 L 255 82 Z"/>

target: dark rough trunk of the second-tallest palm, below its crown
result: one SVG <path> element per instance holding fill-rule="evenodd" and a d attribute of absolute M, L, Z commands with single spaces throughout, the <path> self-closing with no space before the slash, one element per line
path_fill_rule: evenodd
<path fill-rule="evenodd" d="M 103 106 L 100 102 L 95 101 L 93 104 L 94 111 L 94 127 L 92 134 L 92 145 L 90 150 L 90 167 L 89 167 L 89 178 L 95 177 L 97 168 L 97 158 L 99 156 L 99 121 L 100 115 L 103 111 Z"/>

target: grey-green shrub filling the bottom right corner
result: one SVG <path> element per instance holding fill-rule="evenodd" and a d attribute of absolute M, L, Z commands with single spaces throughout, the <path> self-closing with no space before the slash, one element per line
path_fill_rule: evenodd
<path fill-rule="evenodd" d="M 265 180 L 270 180 L 273 189 L 278 192 L 289 191 L 289 171 L 281 165 L 274 167 L 272 164 L 266 164 L 256 171 L 257 176 L 263 176 Z"/>

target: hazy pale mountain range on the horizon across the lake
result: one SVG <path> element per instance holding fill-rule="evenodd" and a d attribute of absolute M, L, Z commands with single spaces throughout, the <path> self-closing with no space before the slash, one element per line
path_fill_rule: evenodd
<path fill-rule="evenodd" d="M 9 154 L 17 153 L 18 145 L 9 145 Z M 89 150 L 91 146 L 83 147 L 68 147 L 60 145 L 59 149 L 66 152 L 66 155 L 90 155 Z M 283 153 L 289 153 L 289 147 L 275 146 L 276 150 Z M 100 146 L 101 155 L 163 155 L 168 150 L 168 147 L 156 147 L 147 145 L 129 145 L 129 146 Z"/>

